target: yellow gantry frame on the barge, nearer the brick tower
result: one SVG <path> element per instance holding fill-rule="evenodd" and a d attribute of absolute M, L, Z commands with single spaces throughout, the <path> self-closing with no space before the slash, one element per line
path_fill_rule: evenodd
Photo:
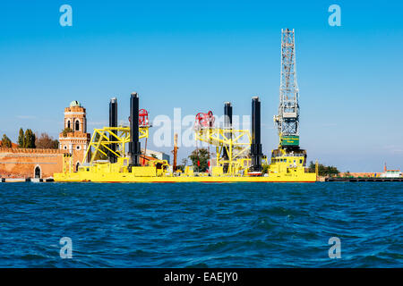
<path fill-rule="evenodd" d="M 95 140 L 97 134 L 99 134 L 99 139 Z M 111 136 L 114 139 L 109 139 Z M 149 126 L 140 126 L 139 127 L 139 139 L 149 138 Z M 84 164 L 87 160 L 87 156 L 90 152 L 91 147 L 94 147 L 94 152 L 91 154 L 90 164 L 93 164 L 95 156 L 100 152 L 103 155 L 107 156 L 107 153 L 104 152 L 101 147 L 105 147 L 107 151 L 114 154 L 117 157 L 123 157 L 125 154 L 125 144 L 130 142 L 130 127 L 104 127 L 102 129 L 94 129 L 94 134 L 92 134 L 92 138 L 90 141 L 90 145 L 87 148 L 87 152 L 83 158 L 82 164 Z M 111 144 L 116 144 L 116 151 L 113 151 L 109 146 Z"/>

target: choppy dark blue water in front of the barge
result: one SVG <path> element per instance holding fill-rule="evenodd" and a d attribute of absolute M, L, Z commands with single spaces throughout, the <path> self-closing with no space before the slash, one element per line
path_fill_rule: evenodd
<path fill-rule="evenodd" d="M 401 267 L 402 203 L 399 182 L 0 183 L 0 266 Z"/>

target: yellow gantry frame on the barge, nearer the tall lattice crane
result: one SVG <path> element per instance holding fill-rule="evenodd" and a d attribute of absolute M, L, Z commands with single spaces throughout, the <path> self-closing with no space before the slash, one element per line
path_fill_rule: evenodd
<path fill-rule="evenodd" d="M 217 165 L 228 164 L 227 174 L 236 175 L 236 172 L 247 167 L 244 166 L 245 159 L 241 156 L 251 148 L 252 137 L 249 130 L 204 127 L 194 130 L 194 135 L 194 139 L 216 147 Z M 245 138 L 247 142 L 242 142 Z M 223 148 L 227 148 L 228 160 L 220 156 Z"/>

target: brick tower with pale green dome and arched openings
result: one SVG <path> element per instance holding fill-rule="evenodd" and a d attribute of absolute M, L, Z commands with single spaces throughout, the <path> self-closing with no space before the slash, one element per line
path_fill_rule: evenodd
<path fill-rule="evenodd" d="M 73 101 L 70 107 L 64 108 L 64 130 L 59 135 L 59 148 L 73 155 L 74 169 L 78 170 L 89 145 L 86 110 L 78 101 Z"/>

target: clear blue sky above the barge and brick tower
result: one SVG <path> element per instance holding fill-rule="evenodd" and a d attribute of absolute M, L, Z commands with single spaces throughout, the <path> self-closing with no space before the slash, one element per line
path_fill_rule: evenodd
<path fill-rule="evenodd" d="M 73 7 L 73 27 L 59 24 L 62 4 Z M 328 24 L 330 4 L 341 27 Z M 221 115 L 224 101 L 250 114 L 259 96 L 269 154 L 280 31 L 291 28 L 308 159 L 350 172 L 402 168 L 402 13 L 399 1 L 2 1 L 0 134 L 57 137 L 73 100 L 87 108 L 89 130 L 107 122 L 110 97 L 125 120 L 134 90 L 151 118 L 174 107 Z"/>

